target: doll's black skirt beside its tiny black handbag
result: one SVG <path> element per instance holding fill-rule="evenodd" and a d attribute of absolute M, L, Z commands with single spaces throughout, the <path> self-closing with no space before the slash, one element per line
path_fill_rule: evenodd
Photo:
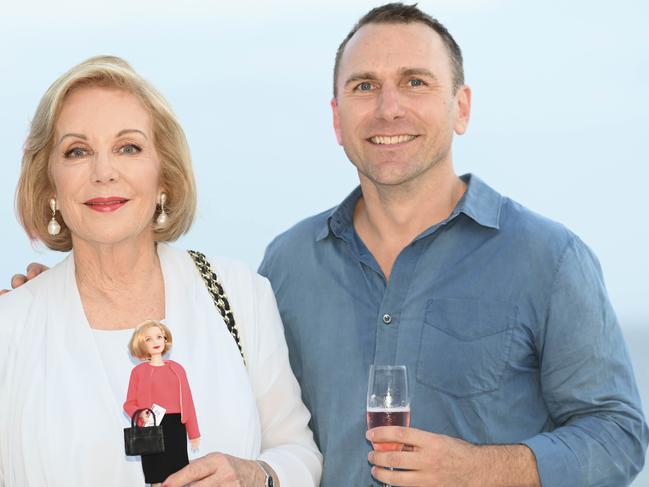
<path fill-rule="evenodd" d="M 180 422 L 180 413 L 165 414 L 162 418 L 165 437 L 165 451 L 153 455 L 142 455 L 144 480 L 148 484 L 164 481 L 189 463 L 187 457 L 187 430 Z"/>

